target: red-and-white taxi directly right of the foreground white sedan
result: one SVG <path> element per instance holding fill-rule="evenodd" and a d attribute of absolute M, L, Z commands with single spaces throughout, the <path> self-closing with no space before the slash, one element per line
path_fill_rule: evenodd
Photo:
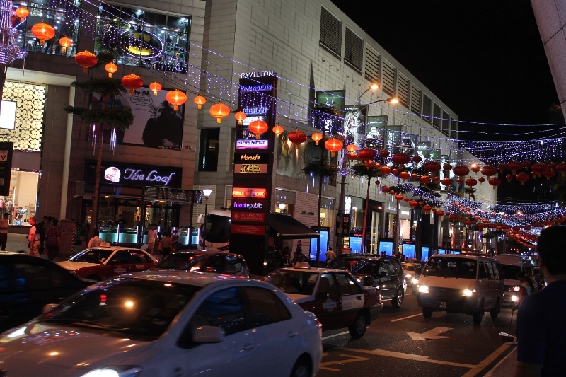
<path fill-rule="evenodd" d="M 347 327 L 359 338 L 381 314 L 379 291 L 364 287 L 348 272 L 311 268 L 306 262 L 280 268 L 265 278 L 306 311 L 315 313 L 323 330 Z"/>

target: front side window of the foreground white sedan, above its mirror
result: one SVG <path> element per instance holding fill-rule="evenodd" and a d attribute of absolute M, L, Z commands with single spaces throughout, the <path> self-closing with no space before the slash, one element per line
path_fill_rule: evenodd
<path fill-rule="evenodd" d="M 246 317 L 238 289 L 227 288 L 211 294 L 190 320 L 192 330 L 200 326 L 222 327 L 226 335 L 246 330 Z"/>

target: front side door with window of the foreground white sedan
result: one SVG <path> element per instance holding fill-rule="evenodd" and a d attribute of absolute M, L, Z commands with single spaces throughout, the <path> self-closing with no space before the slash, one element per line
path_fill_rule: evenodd
<path fill-rule="evenodd" d="M 212 292 L 192 315 L 179 344 L 187 349 L 185 369 L 190 376 L 232 376 L 235 371 L 255 369 L 258 337 L 248 329 L 241 292 L 236 287 Z M 221 327 L 220 343 L 194 343 L 192 333 L 200 326 Z M 265 355 L 266 357 L 268 355 Z M 251 373 L 251 371 L 250 371 Z M 259 375 L 251 373 L 250 376 Z"/>

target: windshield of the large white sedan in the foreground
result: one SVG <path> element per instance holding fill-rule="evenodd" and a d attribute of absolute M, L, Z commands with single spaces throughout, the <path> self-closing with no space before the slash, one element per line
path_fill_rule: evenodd
<path fill-rule="evenodd" d="M 155 340 L 199 289 L 188 284 L 116 278 L 71 296 L 39 321 Z"/>

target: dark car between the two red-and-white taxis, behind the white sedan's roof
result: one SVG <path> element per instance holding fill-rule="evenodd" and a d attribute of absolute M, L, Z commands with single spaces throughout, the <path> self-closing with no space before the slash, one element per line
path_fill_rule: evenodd
<path fill-rule="evenodd" d="M 235 277 L 250 277 L 248 265 L 242 255 L 232 253 L 206 253 L 200 250 L 178 251 L 168 255 L 156 269 L 183 269 L 185 271 L 214 272 Z"/>

